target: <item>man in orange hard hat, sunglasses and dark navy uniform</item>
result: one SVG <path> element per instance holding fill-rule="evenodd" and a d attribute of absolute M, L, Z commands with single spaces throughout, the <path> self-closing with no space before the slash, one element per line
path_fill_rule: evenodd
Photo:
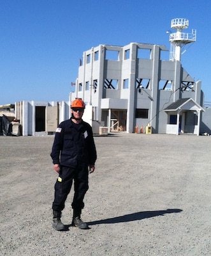
<path fill-rule="evenodd" d="M 52 204 L 53 224 L 55 230 L 64 230 L 61 212 L 71 190 L 74 180 L 74 196 L 72 225 L 78 228 L 89 228 L 80 218 L 84 209 L 84 196 L 87 192 L 88 175 L 94 172 L 97 159 L 96 147 L 91 125 L 82 120 L 85 104 L 82 99 L 71 103 L 71 118 L 59 124 L 55 132 L 52 157 L 55 172 L 59 177 L 55 182 L 55 196 Z"/>

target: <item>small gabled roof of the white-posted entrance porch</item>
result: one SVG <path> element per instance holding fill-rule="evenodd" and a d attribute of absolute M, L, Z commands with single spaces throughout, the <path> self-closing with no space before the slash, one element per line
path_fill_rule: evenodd
<path fill-rule="evenodd" d="M 167 108 L 164 109 L 164 111 L 177 111 L 178 109 L 182 108 L 186 110 L 191 110 L 189 108 L 188 102 L 191 102 L 192 105 L 194 105 L 197 109 L 201 109 L 201 111 L 205 111 L 198 103 L 196 103 L 192 98 L 184 98 L 184 99 L 178 99 L 176 102 L 171 103 Z M 187 108 L 186 108 L 187 105 Z"/>

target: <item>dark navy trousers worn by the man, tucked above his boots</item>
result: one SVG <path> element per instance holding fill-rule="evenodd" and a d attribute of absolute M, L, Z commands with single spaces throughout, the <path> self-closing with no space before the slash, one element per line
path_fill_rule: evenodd
<path fill-rule="evenodd" d="M 64 209 L 65 201 L 71 190 L 71 186 L 74 180 L 74 196 L 72 202 L 73 209 L 84 208 L 84 196 L 89 189 L 88 185 L 88 166 L 80 168 L 70 168 L 61 166 L 59 177 L 55 182 L 55 195 L 52 209 L 54 211 L 62 211 Z"/>

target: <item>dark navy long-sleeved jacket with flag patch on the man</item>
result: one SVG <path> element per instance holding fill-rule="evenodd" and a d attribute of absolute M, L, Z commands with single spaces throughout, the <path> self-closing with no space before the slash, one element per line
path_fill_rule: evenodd
<path fill-rule="evenodd" d="M 94 165 L 97 154 L 91 125 L 84 121 L 75 124 L 71 119 L 61 122 L 50 156 L 54 164 L 72 168 L 78 164 Z"/>

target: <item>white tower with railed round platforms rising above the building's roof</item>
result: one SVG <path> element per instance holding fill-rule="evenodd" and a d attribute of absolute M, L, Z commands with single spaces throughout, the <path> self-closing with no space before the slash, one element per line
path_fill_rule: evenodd
<path fill-rule="evenodd" d="M 177 29 L 176 33 L 171 33 L 170 30 L 166 33 L 170 33 L 170 60 L 180 61 L 181 60 L 181 49 L 182 46 L 196 42 L 196 29 L 192 29 L 192 33 L 184 33 L 183 29 L 188 28 L 189 20 L 188 19 L 172 19 L 171 28 Z M 185 52 L 185 51 L 184 51 Z M 182 52 L 182 53 L 184 53 Z"/>

